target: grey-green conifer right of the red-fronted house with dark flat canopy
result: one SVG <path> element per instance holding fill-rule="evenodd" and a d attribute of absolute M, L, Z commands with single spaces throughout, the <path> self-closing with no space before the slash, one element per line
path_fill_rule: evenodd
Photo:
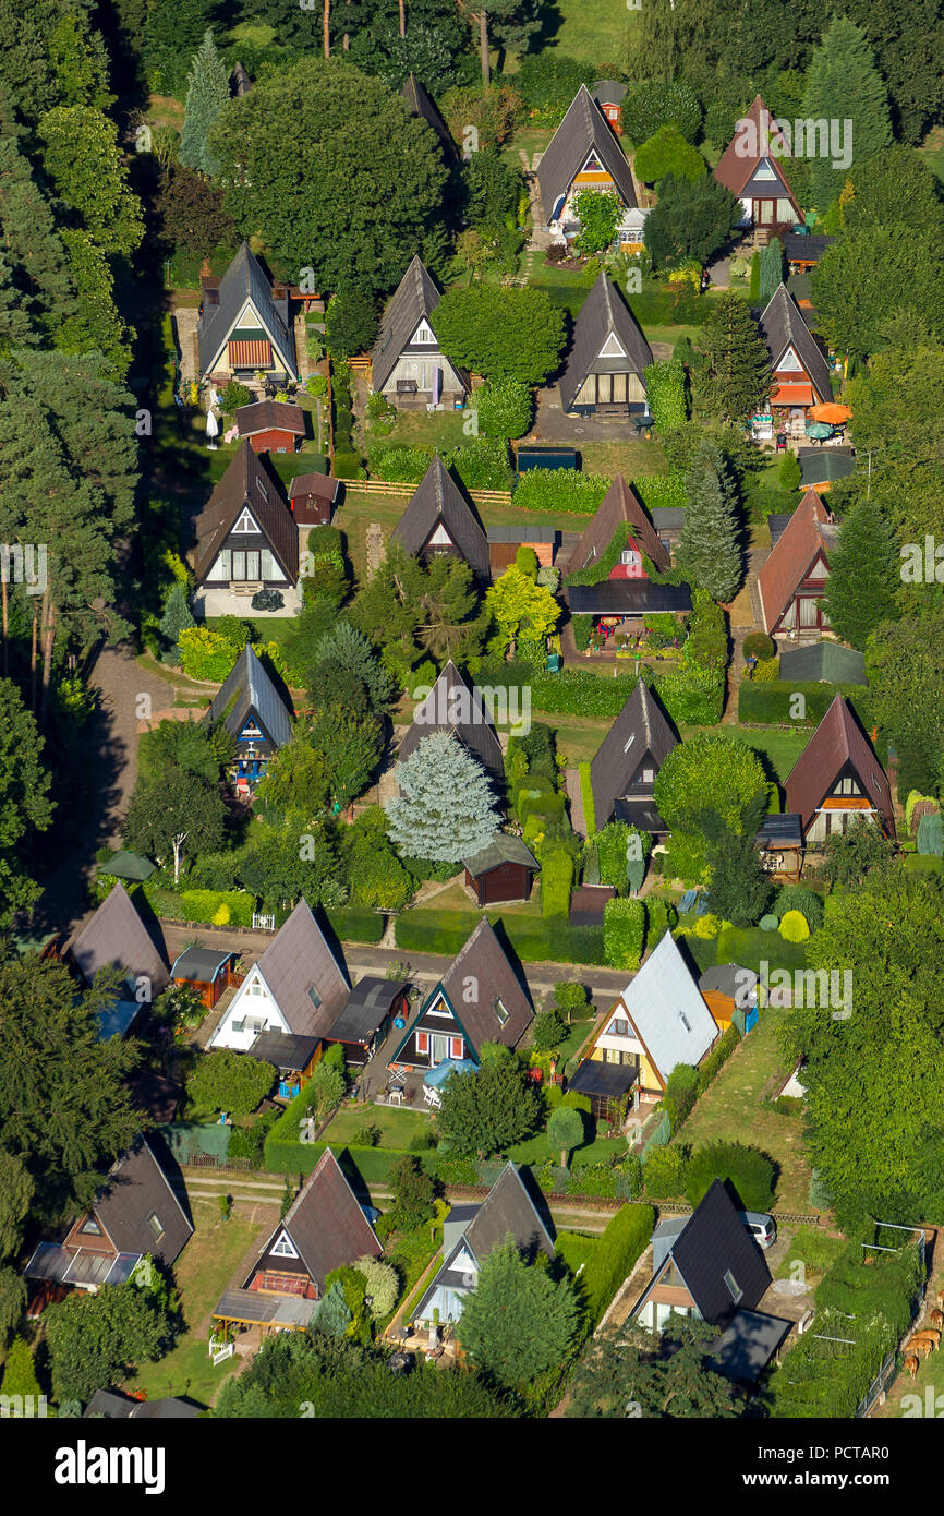
<path fill-rule="evenodd" d="M 703 441 L 685 476 L 688 508 L 679 541 L 679 559 L 692 584 L 712 600 L 733 600 L 742 576 L 738 491 L 724 455 Z"/>

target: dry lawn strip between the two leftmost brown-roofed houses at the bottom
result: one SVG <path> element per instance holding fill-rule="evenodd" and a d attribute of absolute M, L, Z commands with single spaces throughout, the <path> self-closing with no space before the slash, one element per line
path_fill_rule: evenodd
<path fill-rule="evenodd" d="M 271 1210 L 271 1220 L 265 1213 Z M 217 1201 L 192 1201 L 194 1236 L 174 1264 L 174 1278 L 186 1331 L 159 1363 L 145 1363 L 123 1389 L 141 1389 L 155 1401 L 186 1395 L 203 1405 L 212 1405 L 220 1386 L 244 1363 L 236 1354 L 214 1367 L 208 1352 L 209 1313 L 230 1284 L 239 1260 L 268 1225 L 279 1219 L 277 1205 L 261 1207 L 253 1201 L 235 1201 L 227 1222 L 220 1220 Z"/>

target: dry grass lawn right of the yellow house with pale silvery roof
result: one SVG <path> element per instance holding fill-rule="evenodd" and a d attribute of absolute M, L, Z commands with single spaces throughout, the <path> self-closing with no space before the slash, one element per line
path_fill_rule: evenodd
<path fill-rule="evenodd" d="M 773 934 L 767 934 L 773 935 Z M 803 1151 L 803 1120 L 780 1116 L 764 1105 L 774 1076 L 783 1069 L 777 1028 L 788 1011 L 768 1008 L 735 1048 L 714 1084 L 705 1092 L 679 1131 L 680 1143 L 749 1142 L 779 1164 L 776 1205 L 785 1211 L 812 1211 L 811 1166 Z"/>

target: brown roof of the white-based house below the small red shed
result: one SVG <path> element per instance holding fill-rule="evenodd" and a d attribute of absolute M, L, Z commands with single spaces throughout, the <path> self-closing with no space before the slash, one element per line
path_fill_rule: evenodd
<path fill-rule="evenodd" d="M 294 584 L 299 578 L 299 526 L 285 503 L 282 484 L 253 452 L 249 437 L 239 443 L 209 500 L 197 517 L 194 578 L 203 584 L 214 558 L 247 508 L 267 538 L 279 565 Z"/>

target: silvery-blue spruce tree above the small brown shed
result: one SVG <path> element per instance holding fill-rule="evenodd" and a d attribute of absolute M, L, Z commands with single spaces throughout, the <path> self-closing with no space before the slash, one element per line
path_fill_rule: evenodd
<path fill-rule="evenodd" d="M 450 732 L 423 737 L 397 766 L 400 794 L 385 810 L 406 858 L 459 863 L 488 847 L 500 826 L 482 764 Z"/>

